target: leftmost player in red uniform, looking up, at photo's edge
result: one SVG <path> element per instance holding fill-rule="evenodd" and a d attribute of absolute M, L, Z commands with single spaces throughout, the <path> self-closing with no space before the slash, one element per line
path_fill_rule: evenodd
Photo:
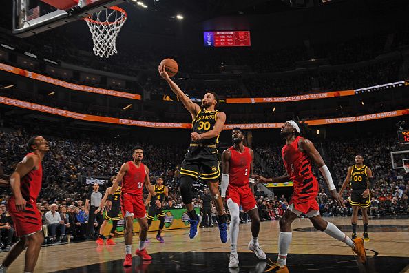
<path fill-rule="evenodd" d="M 34 272 L 44 241 L 41 214 L 37 209 L 36 199 L 41 190 L 43 180 L 41 161 L 49 150 L 48 142 L 43 136 L 33 136 L 27 145 L 32 152 L 17 164 L 16 170 L 10 176 L 12 196 L 8 201 L 8 212 L 12 216 L 16 234 L 20 239 L 1 263 L 0 272 L 6 272 L 26 247 L 24 272 Z"/>

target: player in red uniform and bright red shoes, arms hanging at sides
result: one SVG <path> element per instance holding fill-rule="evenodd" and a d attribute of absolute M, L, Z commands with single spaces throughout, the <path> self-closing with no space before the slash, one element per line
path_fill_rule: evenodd
<path fill-rule="evenodd" d="M 143 260 L 151 260 L 151 256 L 147 254 L 145 249 L 146 235 L 148 231 L 148 223 L 146 218 L 145 204 L 143 203 L 143 185 L 147 188 L 151 196 L 156 196 L 154 187 L 149 181 L 149 168 L 142 163 L 143 148 L 135 147 L 133 150 L 134 161 L 123 163 L 116 176 L 116 180 L 112 185 L 111 192 L 116 192 L 118 184 L 122 181 L 122 193 L 120 195 L 120 205 L 122 214 L 125 217 L 125 261 L 123 266 L 132 266 L 132 236 L 134 218 L 138 219 L 140 225 L 139 232 L 139 247 L 135 254 Z M 106 202 L 107 210 L 112 206 L 112 194 L 109 194 Z M 162 205 L 159 200 L 156 200 L 158 207 Z"/>

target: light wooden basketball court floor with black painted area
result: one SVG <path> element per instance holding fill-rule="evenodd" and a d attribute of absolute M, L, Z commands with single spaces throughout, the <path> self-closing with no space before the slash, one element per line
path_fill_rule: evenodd
<path fill-rule="evenodd" d="M 335 217 L 326 220 L 336 224 L 350 235 L 350 218 Z M 408 219 L 371 218 L 370 241 L 366 242 L 367 263 L 355 259 L 349 247 L 314 230 L 308 219 L 293 223 L 288 265 L 290 272 L 409 272 L 409 225 Z M 362 226 L 358 226 L 358 233 Z M 238 254 L 240 267 L 229 269 L 230 245 L 220 243 L 217 228 L 202 228 L 196 239 L 190 240 L 188 229 L 166 231 L 165 243 L 154 239 L 147 250 L 152 261 L 141 261 L 134 256 L 132 267 L 122 266 L 125 243 L 116 238 L 116 245 L 98 246 L 94 241 L 67 243 L 42 247 L 36 272 L 264 272 L 268 264 L 277 259 L 278 221 L 262 222 L 259 241 L 267 254 L 260 261 L 247 249 L 251 239 L 250 223 L 240 225 Z M 134 236 L 133 251 L 138 237 Z M 6 253 L 0 254 L 0 259 Z M 22 272 L 24 256 L 12 264 L 8 272 Z"/>

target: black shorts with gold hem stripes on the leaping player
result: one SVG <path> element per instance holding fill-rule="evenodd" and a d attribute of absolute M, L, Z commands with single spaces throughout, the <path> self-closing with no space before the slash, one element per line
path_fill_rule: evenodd
<path fill-rule="evenodd" d="M 216 145 L 191 144 L 187 150 L 180 177 L 191 176 L 203 181 L 214 181 L 220 176 L 219 152 Z"/>

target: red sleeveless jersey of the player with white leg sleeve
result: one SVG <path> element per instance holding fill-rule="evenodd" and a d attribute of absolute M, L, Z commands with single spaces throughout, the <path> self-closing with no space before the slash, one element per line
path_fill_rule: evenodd
<path fill-rule="evenodd" d="M 229 162 L 229 185 L 242 187 L 249 185 L 251 153 L 248 147 L 244 146 L 242 153 L 235 150 L 233 147 L 229 148 L 231 158 Z"/>

